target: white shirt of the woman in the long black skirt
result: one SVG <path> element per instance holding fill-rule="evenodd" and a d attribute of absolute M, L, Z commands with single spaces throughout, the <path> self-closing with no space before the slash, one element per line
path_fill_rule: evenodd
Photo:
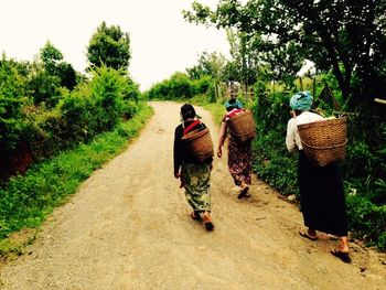
<path fill-rule="evenodd" d="M 298 150 L 303 149 L 298 132 L 298 125 L 314 122 L 319 120 L 323 120 L 323 117 L 311 111 L 303 111 L 296 118 L 291 118 L 287 123 L 286 144 L 288 151 L 292 152 L 297 148 Z"/>

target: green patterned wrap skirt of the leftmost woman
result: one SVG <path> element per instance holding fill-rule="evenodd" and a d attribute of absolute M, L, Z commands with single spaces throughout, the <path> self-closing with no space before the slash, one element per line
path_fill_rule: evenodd
<path fill-rule="evenodd" d="M 211 168 L 206 163 L 182 163 L 181 178 L 187 203 L 196 212 L 211 212 Z"/>

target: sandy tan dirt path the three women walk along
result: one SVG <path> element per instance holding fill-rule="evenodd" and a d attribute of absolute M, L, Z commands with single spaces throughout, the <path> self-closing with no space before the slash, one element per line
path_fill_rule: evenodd
<path fill-rule="evenodd" d="M 205 232 L 172 174 L 180 105 L 152 106 L 141 137 L 1 270 L 3 289 L 386 289 L 384 256 L 353 245 L 353 264 L 341 262 L 329 253 L 335 241 L 301 238 L 297 207 L 259 181 L 238 201 L 225 159 L 212 174 L 216 228 Z"/>

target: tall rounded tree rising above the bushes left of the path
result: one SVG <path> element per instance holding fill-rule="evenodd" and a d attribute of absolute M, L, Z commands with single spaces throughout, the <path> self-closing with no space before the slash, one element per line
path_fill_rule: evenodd
<path fill-rule="evenodd" d="M 115 69 L 129 67 L 131 57 L 130 37 L 119 26 L 107 26 L 105 22 L 97 28 L 87 47 L 87 58 L 92 67 L 105 64 Z"/>

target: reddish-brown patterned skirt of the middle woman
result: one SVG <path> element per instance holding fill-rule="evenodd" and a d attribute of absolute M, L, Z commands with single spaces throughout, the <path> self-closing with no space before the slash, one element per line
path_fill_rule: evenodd
<path fill-rule="evenodd" d="M 251 162 L 251 141 L 239 143 L 236 138 L 229 133 L 228 169 L 236 185 L 240 185 L 243 181 L 250 184 Z"/>

